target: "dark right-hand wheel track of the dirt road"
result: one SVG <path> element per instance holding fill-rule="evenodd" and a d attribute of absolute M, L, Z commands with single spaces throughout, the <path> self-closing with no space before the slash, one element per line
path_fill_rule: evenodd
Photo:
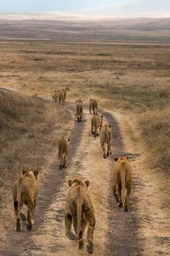
<path fill-rule="evenodd" d="M 122 134 L 120 131 L 119 124 L 112 114 L 108 111 L 101 110 L 107 122 L 112 126 L 112 163 L 114 158 L 120 155 L 129 155 L 133 160 L 136 155 L 132 153 L 125 153 L 124 145 L 122 140 Z M 134 171 L 134 170 L 133 170 Z M 112 170 L 110 174 L 110 187 L 112 188 Z M 120 255 L 120 256 L 131 256 L 131 255 L 143 255 L 142 241 L 138 237 L 139 219 L 138 219 L 138 198 L 135 197 L 135 190 L 141 189 L 142 184 L 138 178 L 136 171 L 133 172 L 133 188 L 130 195 L 128 213 L 123 213 L 120 208 L 117 208 L 115 198 L 110 193 L 109 200 L 109 234 L 108 234 L 108 255 Z M 111 242 L 112 241 L 112 242 Z"/>

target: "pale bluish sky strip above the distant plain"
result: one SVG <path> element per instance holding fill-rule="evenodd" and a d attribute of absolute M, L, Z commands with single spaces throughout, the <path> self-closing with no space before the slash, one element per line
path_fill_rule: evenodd
<path fill-rule="evenodd" d="M 170 13 L 170 0 L 0 0 L 0 12 L 73 12 L 131 15 Z M 85 10 L 85 11 L 84 11 Z"/>

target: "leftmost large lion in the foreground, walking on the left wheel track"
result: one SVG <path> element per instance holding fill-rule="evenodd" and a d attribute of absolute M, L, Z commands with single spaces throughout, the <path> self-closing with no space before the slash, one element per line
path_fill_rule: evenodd
<path fill-rule="evenodd" d="M 22 231 L 21 219 L 26 221 L 24 214 L 21 212 L 22 206 L 27 206 L 27 230 L 32 230 L 32 216 L 35 211 L 37 202 L 37 176 L 40 170 L 35 169 L 32 171 L 22 170 L 22 177 L 14 182 L 13 187 L 13 200 L 14 200 L 14 213 L 17 219 L 16 231 Z"/>

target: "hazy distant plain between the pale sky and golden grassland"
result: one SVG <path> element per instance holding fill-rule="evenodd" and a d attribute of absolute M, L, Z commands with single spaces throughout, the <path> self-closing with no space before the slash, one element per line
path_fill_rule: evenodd
<path fill-rule="evenodd" d="M 94 18 L 64 14 L 2 14 L 1 39 L 60 42 L 169 43 L 169 18 Z"/>

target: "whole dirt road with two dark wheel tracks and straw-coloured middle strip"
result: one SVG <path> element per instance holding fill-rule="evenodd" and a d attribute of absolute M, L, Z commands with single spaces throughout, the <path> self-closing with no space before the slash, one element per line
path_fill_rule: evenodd
<path fill-rule="evenodd" d="M 66 106 L 67 107 L 67 106 Z M 68 106 L 73 111 L 73 106 Z M 40 187 L 35 210 L 35 225 L 31 232 L 15 232 L 9 235 L 6 249 L 0 255 L 87 255 L 86 246 L 79 251 L 78 244 L 66 239 L 64 204 L 68 192 L 67 180 L 79 174 L 91 182 L 91 198 L 94 201 L 97 226 L 94 231 L 94 255 L 143 255 L 143 241 L 139 236 L 138 191 L 143 188 L 134 170 L 130 212 L 123 213 L 112 196 L 112 166 L 115 156 L 130 155 L 133 161 L 138 154 L 124 152 L 119 124 L 115 117 L 101 110 L 104 121 L 112 125 L 112 156 L 105 160 L 99 137 L 91 136 L 91 116 L 84 110 L 82 123 L 73 127 L 68 168 L 60 170 L 58 160 Z M 23 227 L 24 229 L 24 227 Z M 86 240 L 86 231 L 84 234 Z M 86 241 L 85 241 L 86 244 Z"/>

